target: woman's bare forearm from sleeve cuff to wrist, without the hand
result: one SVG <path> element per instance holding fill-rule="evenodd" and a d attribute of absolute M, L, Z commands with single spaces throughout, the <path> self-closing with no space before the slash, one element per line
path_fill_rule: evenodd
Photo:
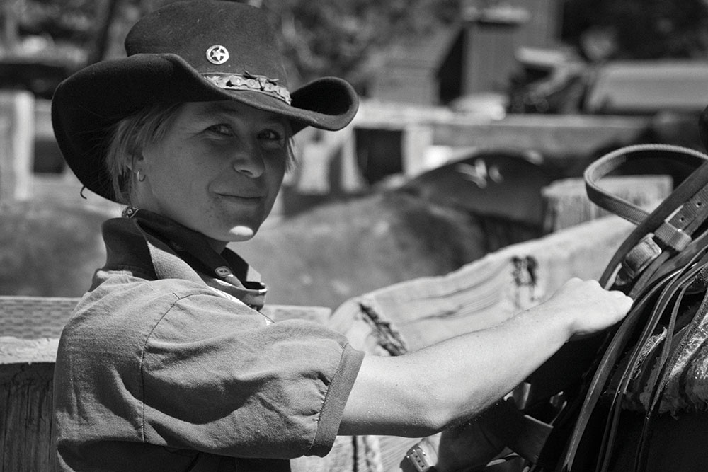
<path fill-rule="evenodd" d="M 532 309 L 408 355 L 367 356 L 347 407 L 369 417 L 362 425 L 366 430 L 382 427 L 377 434 L 438 432 L 484 410 L 556 352 L 569 338 L 561 321 Z M 369 391 L 356 390 L 366 385 Z"/>

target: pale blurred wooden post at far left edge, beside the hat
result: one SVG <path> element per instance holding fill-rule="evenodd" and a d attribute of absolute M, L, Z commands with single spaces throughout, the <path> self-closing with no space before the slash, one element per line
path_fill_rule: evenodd
<path fill-rule="evenodd" d="M 28 91 L 0 92 L 0 202 L 32 196 L 34 104 Z"/>

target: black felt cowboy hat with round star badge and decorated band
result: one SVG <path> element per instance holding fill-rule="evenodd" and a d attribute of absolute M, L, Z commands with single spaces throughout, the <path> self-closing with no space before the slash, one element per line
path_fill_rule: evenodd
<path fill-rule="evenodd" d="M 64 159 L 86 188 L 110 200 L 105 129 L 148 105 L 236 100 L 287 117 L 294 132 L 341 129 L 358 108 L 352 86 L 335 77 L 290 91 L 265 13 L 246 4 L 169 4 L 135 23 L 125 51 L 76 72 L 52 99 Z"/>

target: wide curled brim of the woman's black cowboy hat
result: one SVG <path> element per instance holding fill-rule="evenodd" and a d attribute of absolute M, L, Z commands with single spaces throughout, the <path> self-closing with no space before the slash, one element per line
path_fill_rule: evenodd
<path fill-rule="evenodd" d="M 358 96 L 336 77 L 317 79 L 290 93 L 290 105 L 258 91 L 219 88 L 176 54 L 135 54 L 98 62 L 59 84 L 52 126 L 64 159 L 86 188 L 115 200 L 103 165 L 105 131 L 154 103 L 236 100 L 287 117 L 293 133 L 307 126 L 334 131 L 353 120 Z"/>

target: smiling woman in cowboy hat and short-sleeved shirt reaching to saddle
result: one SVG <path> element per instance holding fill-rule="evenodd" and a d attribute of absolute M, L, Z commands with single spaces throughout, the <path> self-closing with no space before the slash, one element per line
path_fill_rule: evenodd
<path fill-rule="evenodd" d="M 74 173 L 127 205 L 103 227 L 106 264 L 59 345 L 59 470 L 278 471 L 337 434 L 433 434 L 629 309 L 572 280 L 500 326 L 401 357 L 273 323 L 258 311 L 265 286 L 226 245 L 268 216 L 293 134 L 352 120 L 353 89 L 326 78 L 290 91 L 265 16 L 244 4 L 170 4 L 125 45 L 127 58 L 74 74 L 52 104 Z"/>

